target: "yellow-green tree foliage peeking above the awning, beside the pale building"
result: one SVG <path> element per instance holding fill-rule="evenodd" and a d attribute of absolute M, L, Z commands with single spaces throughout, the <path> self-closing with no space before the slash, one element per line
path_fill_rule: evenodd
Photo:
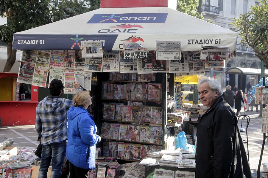
<path fill-rule="evenodd" d="M 204 17 L 197 12 L 199 0 L 177 0 L 177 11 L 186 13 L 196 18 L 204 19 Z"/>

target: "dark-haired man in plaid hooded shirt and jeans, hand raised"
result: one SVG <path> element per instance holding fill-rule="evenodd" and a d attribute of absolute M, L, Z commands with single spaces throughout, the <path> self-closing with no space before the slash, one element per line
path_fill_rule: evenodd
<path fill-rule="evenodd" d="M 73 82 L 73 85 L 75 89 L 82 90 L 78 82 Z M 42 144 L 38 178 L 47 177 L 51 162 L 51 177 L 61 176 L 61 167 L 66 155 L 67 111 L 73 105 L 73 100 L 61 98 L 63 90 L 61 80 L 52 80 L 49 85 L 51 96 L 44 98 L 36 107 L 35 129 Z"/>

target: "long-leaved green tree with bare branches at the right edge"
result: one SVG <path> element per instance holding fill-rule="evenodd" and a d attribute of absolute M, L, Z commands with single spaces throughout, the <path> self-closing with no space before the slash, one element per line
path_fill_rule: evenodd
<path fill-rule="evenodd" d="M 264 66 L 268 69 L 268 3 L 267 0 L 260 1 L 260 6 L 252 6 L 248 13 L 240 14 L 234 22 L 230 23 L 233 28 L 238 28 L 241 36 L 241 46 L 252 47 Z"/>

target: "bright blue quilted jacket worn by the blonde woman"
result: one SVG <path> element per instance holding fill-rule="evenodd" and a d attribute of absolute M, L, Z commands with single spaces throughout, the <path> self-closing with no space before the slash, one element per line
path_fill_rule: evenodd
<path fill-rule="evenodd" d="M 76 167 L 95 169 L 97 127 L 84 107 L 72 106 L 68 112 L 67 159 Z"/>

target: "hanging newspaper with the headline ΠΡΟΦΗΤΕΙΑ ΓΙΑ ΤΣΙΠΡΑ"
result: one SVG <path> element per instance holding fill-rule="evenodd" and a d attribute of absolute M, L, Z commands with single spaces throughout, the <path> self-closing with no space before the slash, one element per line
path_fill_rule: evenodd
<path fill-rule="evenodd" d="M 85 58 L 85 71 L 102 72 L 102 58 Z"/>

